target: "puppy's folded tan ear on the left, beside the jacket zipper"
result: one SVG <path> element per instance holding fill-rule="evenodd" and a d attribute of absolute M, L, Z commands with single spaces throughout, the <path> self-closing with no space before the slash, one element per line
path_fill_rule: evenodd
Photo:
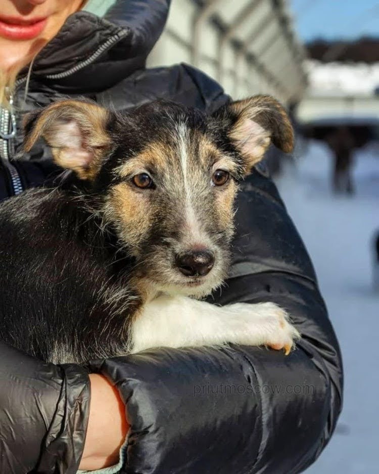
<path fill-rule="evenodd" d="M 43 138 L 57 164 L 72 169 L 82 180 L 93 180 L 110 148 L 109 119 L 109 111 L 94 103 L 55 102 L 26 116 L 24 149 L 29 151 Z"/>

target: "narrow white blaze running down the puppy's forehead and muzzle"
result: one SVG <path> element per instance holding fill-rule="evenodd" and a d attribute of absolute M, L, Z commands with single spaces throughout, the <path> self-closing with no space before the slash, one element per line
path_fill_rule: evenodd
<path fill-rule="evenodd" d="M 183 174 L 183 188 L 184 188 L 184 212 L 185 212 L 185 227 L 188 233 L 188 244 L 204 244 L 209 241 L 206 235 L 201 230 L 201 225 L 196 215 L 194 207 L 195 200 L 198 198 L 196 186 L 189 169 L 189 133 L 188 128 L 184 122 L 177 125 L 177 137 L 179 144 L 180 166 Z"/>

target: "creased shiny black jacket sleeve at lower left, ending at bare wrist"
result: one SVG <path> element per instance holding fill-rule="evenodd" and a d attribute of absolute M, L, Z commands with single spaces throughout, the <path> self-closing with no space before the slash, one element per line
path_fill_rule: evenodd
<path fill-rule="evenodd" d="M 0 472 L 75 474 L 88 421 L 89 379 L 0 341 Z"/>

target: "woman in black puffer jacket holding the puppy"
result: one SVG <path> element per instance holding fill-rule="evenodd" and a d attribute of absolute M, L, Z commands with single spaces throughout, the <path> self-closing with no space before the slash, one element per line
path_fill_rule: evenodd
<path fill-rule="evenodd" d="M 169 4 L 115 0 L 99 18 L 80 0 L 3 0 L 3 199 L 54 182 L 48 146 L 22 152 L 21 123 L 62 96 L 117 110 L 168 98 L 209 113 L 229 101 L 188 65 L 145 68 Z M 318 457 L 342 406 L 338 342 L 264 168 L 252 170 L 237 205 L 231 276 L 212 302 L 274 301 L 302 333 L 297 349 L 286 357 L 246 346 L 160 348 L 79 366 L 0 341 L 0 472 L 295 473 Z"/>

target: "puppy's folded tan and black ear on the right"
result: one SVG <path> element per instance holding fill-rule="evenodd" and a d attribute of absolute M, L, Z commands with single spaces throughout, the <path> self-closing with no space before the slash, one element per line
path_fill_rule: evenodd
<path fill-rule="evenodd" d="M 217 116 L 226 122 L 229 139 L 245 160 L 246 173 L 263 158 L 270 143 L 286 153 L 293 151 L 294 131 L 290 119 L 271 96 L 231 102 L 217 112 Z"/>

